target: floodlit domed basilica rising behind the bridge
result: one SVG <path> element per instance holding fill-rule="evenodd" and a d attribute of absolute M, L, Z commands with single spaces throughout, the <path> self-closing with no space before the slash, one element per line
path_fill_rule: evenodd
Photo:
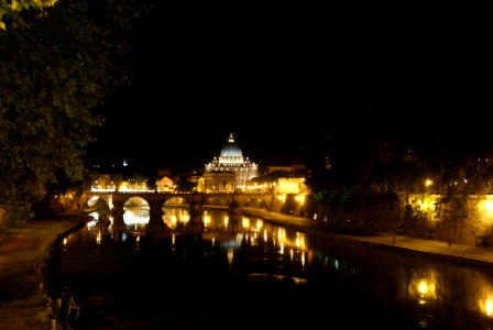
<path fill-rule="evenodd" d="M 206 164 L 204 183 L 199 186 L 204 191 L 243 190 L 246 183 L 256 176 L 259 176 L 259 166 L 249 157 L 243 157 L 231 133 L 219 157 L 215 156 L 210 163 Z"/>

